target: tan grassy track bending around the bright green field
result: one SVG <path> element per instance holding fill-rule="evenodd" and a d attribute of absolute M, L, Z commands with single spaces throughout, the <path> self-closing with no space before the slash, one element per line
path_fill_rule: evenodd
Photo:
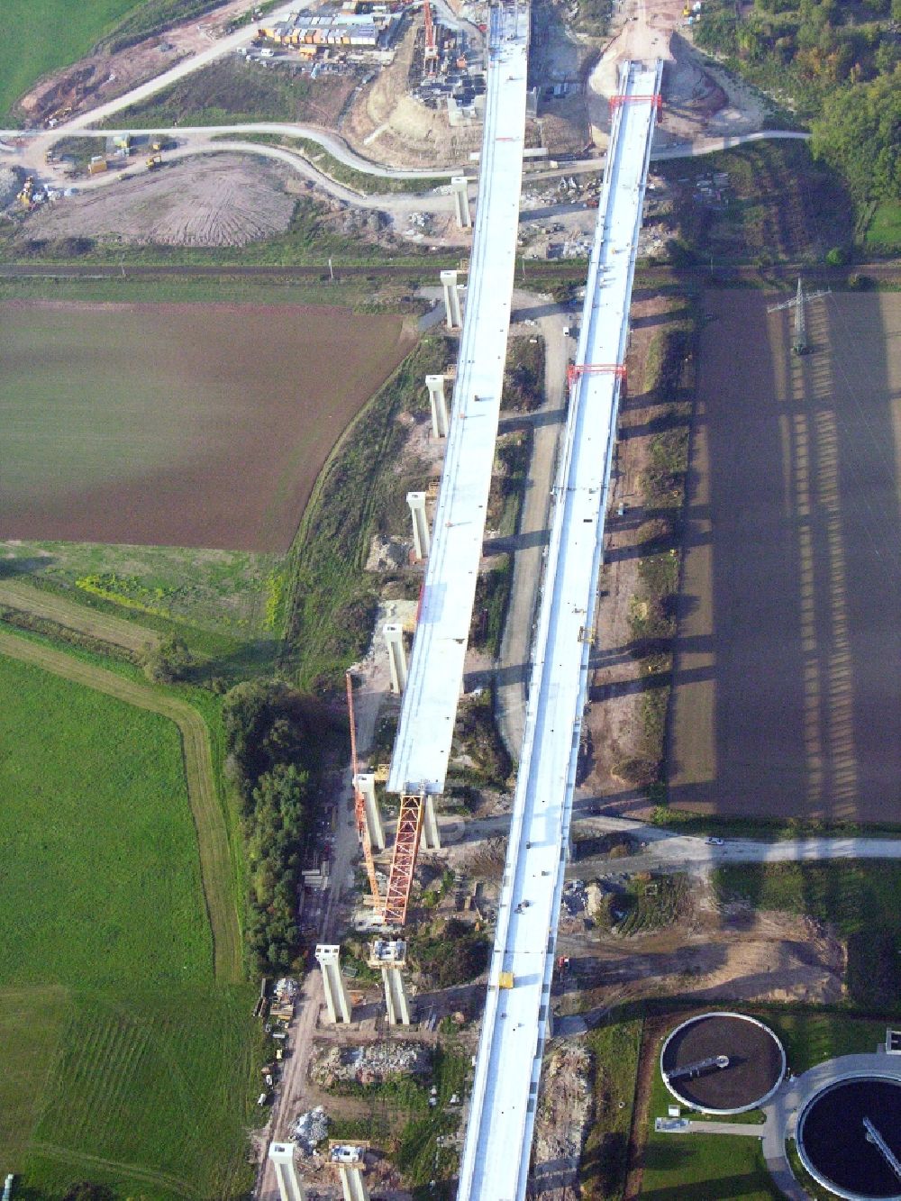
<path fill-rule="evenodd" d="M 137 705 L 138 709 L 160 713 L 178 725 L 185 755 L 187 795 L 197 829 L 203 892 L 213 931 L 216 979 L 227 984 L 240 981 L 241 939 L 232 888 L 232 856 L 213 776 L 207 723 L 201 715 L 177 697 L 167 697 L 147 685 L 105 671 L 61 651 L 16 638 L 13 634 L 0 632 L 0 655 L 8 655 L 20 663 L 30 663 L 44 671 L 52 671 L 73 683 L 96 688 L 97 692 L 124 700 L 127 705 Z"/>

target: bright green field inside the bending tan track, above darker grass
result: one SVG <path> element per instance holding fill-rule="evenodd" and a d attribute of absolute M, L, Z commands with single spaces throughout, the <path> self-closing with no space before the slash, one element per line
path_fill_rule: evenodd
<path fill-rule="evenodd" d="M 211 980 L 178 728 L 5 657 L 0 692 L 0 986 Z"/>

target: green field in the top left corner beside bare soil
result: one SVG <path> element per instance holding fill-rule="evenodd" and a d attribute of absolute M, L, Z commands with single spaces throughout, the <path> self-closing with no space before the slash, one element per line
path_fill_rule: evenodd
<path fill-rule="evenodd" d="M 0 42 L 0 114 L 36 79 L 88 54 L 136 0 L 5 0 Z"/>

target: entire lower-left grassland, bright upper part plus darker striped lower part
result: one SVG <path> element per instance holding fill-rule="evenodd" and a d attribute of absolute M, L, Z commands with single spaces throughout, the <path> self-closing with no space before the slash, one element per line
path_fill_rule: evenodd
<path fill-rule="evenodd" d="M 179 729 L 5 656 L 0 691 L 0 1163 L 241 1196 L 255 990 L 214 984 Z"/>

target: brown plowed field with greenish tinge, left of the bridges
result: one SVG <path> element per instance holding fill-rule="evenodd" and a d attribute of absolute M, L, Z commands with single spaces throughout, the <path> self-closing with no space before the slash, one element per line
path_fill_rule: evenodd
<path fill-rule="evenodd" d="M 395 315 L 0 305 L 0 536 L 284 551 Z"/>

